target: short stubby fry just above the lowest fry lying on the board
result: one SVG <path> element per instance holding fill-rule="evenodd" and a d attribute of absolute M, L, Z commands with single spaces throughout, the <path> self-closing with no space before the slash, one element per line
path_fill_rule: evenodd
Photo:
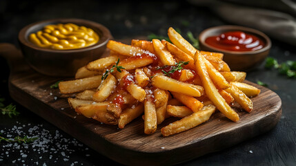
<path fill-rule="evenodd" d="M 193 113 L 193 111 L 186 106 L 168 105 L 168 107 L 166 107 L 166 111 L 168 112 L 168 115 L 177 118 L 184 118 L 186 116 L 190 116 Z"/>

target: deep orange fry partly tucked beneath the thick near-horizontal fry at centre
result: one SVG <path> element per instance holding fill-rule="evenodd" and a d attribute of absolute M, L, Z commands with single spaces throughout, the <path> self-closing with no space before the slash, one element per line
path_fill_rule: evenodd
<path fill-rule="evenodd" d="M 184 95 L 182 93 L 176 93 L 176 92 L 171 92 L 174 98 L 179 100 L 181 103 L 186 105 L 188 108 L 190 108 L 193 112 L 199 111 L 204 104 L 199 102 L 199 100 L 193 98 L 192 96 L 189 95 Z"/>

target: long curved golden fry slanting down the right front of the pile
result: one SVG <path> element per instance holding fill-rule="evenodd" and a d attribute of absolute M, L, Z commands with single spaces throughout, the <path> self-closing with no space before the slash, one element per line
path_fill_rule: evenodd
<path fill-rule="evenodd" d="M 202 55 L 197 51 L 195 54 L 195 66 L 197 68 L 197 73 L 201 78 L 201 82 L 204 85 L 204 90 L 208 98 L 215 104 L 217 109 L 221 111 L 227 118 L 233 120 L 233 122 L 237 122 L 239 120 L 239 115 L 231 109 L 231 107 L 226 103 L 224 98 L 219 94 L 212 80 L 210 80 L 210 76 L 208 75 L 208 71 L 206 68 L 206 64 L 204 63 Z"/>

